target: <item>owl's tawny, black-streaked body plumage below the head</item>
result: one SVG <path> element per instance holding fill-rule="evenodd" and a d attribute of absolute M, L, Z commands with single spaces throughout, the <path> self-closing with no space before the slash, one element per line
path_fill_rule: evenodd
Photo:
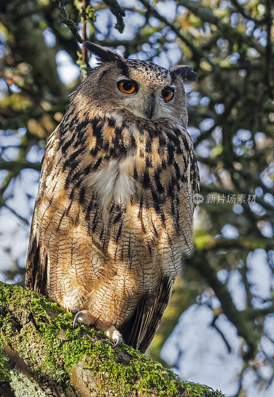
<path fill-rule="evenodd" d="M 105 302 L 115 284 L 117 325 L 123 327 L 143 305 L 146 319 L 137 316 L 135 329 L 151 338 L 182 258 L 193 250 L 198 189 L 196 157 L 184 126 L 164 118 L 137 119 L 126 111 L 91 117 L 71 106 L 47 145 L 26 286 L 77 310 L 87 295 Z M 156 307 L 144 301 L 153 294 L 160 299 Z M 132 307 L 125 302 L 120 307 L 125 296 L 139 296 L 138 305 L 132 298 Z M 128 343 L 136 337 L 128 336 Z"/>

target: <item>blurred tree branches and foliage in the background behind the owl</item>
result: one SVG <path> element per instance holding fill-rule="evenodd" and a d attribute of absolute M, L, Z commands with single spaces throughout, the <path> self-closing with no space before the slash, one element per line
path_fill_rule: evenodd
<path fill-rule="evenodd" d="M 265 326 L 274 313 L 274 3 L 118 2 L 0 4 L 0 261 L 5 277 L 23 284 L 36 195 L 31 186 L 37 187 L 46 139 L 62 119 L 67 95 L 88 71 L 82 38 L 165 67 L 191 65 L 200 78 L 188 87 L 189 133 L 204 197 L 195 217 L 197 251 L 175 283 L 150 354 L 160 359 L 180 315 L 195 303 L 205 305 L 228 351 L 219 316 L 242 338 L 235 396 L 244 397 L 246 371 L 252 369 L 263 388 L 274 378 L 273 370 L 262 372 L 274 365 L 274 334 Z M 61 73 L 64 62 L 78 75 L 70 83 L 66 71 Z M 10 229 L 5 219 L 12 219 Z M 258 261 L 267 263 L 272 280 L 265 295 L 249 276 L 248 260 L 258 250 Z M 244 294 L 242 306 L 229 286 L 233 274 Z M 264 348 L 263 338 L 272 349 Z"/>

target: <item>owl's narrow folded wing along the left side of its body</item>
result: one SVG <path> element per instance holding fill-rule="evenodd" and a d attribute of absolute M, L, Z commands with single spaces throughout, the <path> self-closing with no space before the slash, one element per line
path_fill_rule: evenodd
<path fill-rule="evenodd" d="M 48 266 L 48 254 L 45 247 L 39 243 L 39 221 L 37 216 L 37 207 L 39 206 L 39 200 L 42 196 L 42 192 L 45 186 L 46 176 L 50 174 L 53 168 L 54 158 L 52 156 L 52 150 L 54 147 L 54 133 L 50 136 L 46 147 L 45 154 L 42 159 L 42 171 L 39 182 L 38 194 L 36 198 L 34 213 L 31 222 L 30 240 L 26 264 L 26 279 L 25 288 L 34 289 L 36 292 L 45 294 L 45 287 L 47 281 L 47 266 Z"/>

